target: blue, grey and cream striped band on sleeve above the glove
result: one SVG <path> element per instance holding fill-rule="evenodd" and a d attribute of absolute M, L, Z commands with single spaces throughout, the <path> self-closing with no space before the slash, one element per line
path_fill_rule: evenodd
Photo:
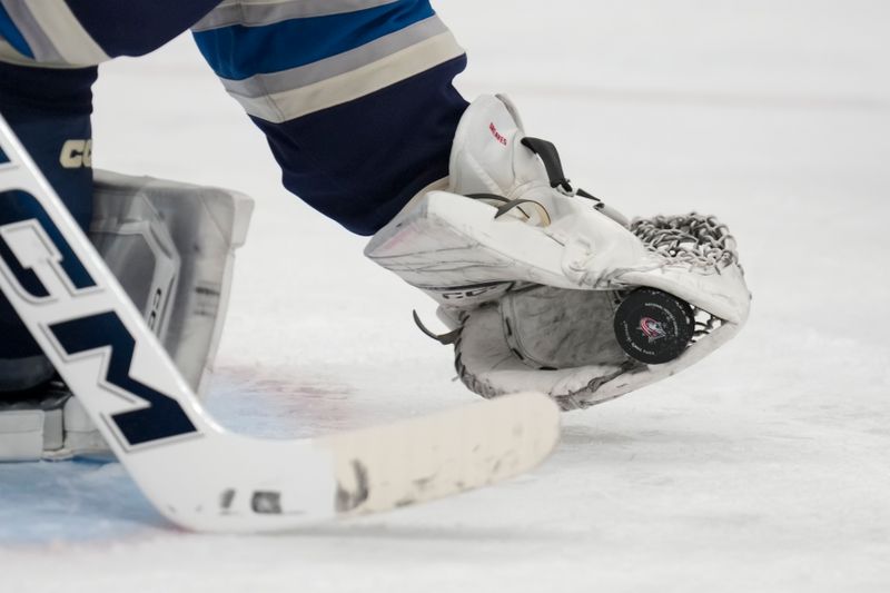
<path fill-rule="evenodd" d="M 249 115 L 273 122 L 464 53 L 423 0 L 227 0 L 192 30 L 226 90 Z"/>

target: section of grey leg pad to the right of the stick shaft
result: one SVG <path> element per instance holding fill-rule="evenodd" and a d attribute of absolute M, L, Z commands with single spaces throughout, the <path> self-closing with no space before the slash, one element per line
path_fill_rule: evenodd
<path fill-rule="evenodd" d="M 237 191 L 96 171 L 90 238 L 198 393 L 253 207 Z"/>

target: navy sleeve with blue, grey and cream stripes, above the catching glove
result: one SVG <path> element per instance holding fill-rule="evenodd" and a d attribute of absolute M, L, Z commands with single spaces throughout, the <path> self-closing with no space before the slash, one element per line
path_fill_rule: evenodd
<path fill-rule="evenodd" d="M 448 175 L 466 58 L 426 0 L 226 4 L 195 28 L 284 185 L 370 235 Z"/>

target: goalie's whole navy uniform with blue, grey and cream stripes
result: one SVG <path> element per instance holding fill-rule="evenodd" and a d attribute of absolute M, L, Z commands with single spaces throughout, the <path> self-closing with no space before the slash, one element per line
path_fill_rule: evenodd
<path fill-rule="evenodd" d="M 466 58 L 427 0 L 0 0 L 0 112 L 85 228 L 97 65 L 188 29 L 285 187 L 350 231 L 447 176 Z M 40 358 L 2 296 L 0 335 L 0 377 Z"/>

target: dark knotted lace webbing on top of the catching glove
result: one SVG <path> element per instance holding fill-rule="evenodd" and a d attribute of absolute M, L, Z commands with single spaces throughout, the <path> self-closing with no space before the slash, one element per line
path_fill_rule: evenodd
<path fill-rule="evenodd" d="M 689 265 L 716 273 L 739 265 L 735 238 L 714 216 L 690 213 L 635 218 L 630 229 L 650 250 L 671 265 Z"/>

